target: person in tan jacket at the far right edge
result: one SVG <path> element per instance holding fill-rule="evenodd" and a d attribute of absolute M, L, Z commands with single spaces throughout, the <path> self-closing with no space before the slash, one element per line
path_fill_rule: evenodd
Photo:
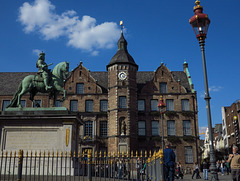
<path fill-rule="evenodd" d="M 238 154 L 238 147 L 233 146 L 233 154 L 229 155 L 228 161 L 231 166 L 231 174 L 233 181 L 240 181 L 240 155 Z"/>

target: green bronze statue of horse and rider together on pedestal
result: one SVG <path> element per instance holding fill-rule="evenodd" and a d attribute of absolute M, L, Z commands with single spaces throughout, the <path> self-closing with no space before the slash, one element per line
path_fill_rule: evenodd
<path fill-rule="evenodd" d="M 30 93 L 30 100 L 34 105 L 39 107 L 39 105 L 34 100 L 34 96 L 38 93 L 49 93 L 50 96 L 54 98 L 54 106 L 57 100 L 57 96 L 60 92 L 63 92 L 63 97 L 60 101 L 64 101 L 66 98 L 66 90 L 63 89 L 64 81 L 69 77 L 69 63 L 61 62 L 57 64 L 53 71 L 51 72 L 48 69 L 48 66 L 45 62 L 45 53 L 41 52 L 36 63 L 38 68 L 37 75 L 28 75 L 26 76 L 20 85 L 18 86 L 17 92 L 14 94 L 9 107 L 19 107 L 21 108 L 21 97 Z"/>

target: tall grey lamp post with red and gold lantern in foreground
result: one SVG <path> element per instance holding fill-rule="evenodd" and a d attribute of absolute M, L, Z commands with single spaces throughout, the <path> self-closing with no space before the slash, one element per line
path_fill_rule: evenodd
<path fill-rule="evenodd" d="M 205 101 L 206 101 L 206 109 L 207 109 L 207 119 L 208 119 L 208 129 L 209 129 L 209 146 L 210 146 L 210 170 L 211 170 L 211 180 L 218 181 L 217 168 L 216 168 L 216 157 L 214 154 L 213 148 L 213 135 L 212 135 L 212 120 L 211 120 L 211 110 L 210 110 L 210 99 L 209 90 L 208 90 L 208 79 L 207 79 L 207 68 L 206 68 L 206 60 L 205 60 L 205 38 L 207 36 L 208 27 L 210 24 L 210 20 L 206 14 L 203 13 L 203 7 L 200 6 L 200 1 L 196 0 L 196 6 L 194 7 L 194 13 L 189 20 L 194 33 L 199 41 L 199 45 L 201 47 L 202 52 L 202 64 L 203 64 L 203 75 L 204 75 L 204 86 L 205 86 Z"/>

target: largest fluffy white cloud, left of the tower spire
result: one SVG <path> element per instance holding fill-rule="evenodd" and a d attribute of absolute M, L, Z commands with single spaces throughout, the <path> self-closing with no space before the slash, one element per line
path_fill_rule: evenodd
<path fill-rule="evenodd" d="M 19 8 L 19 21 L 26 33 L 39 32 L 45 40 L 61 36 L 68 38 L 67 45 L 96 56 L 99 49 L 112 48 L 120 35 L 120 29 L 114 22 L 97 24 L 95 18 L 83 16 L 81 19 L 74 10 L 58 15 L 55 6 L 49 0 L 35 0 L 33 4 L 25 2 Z"/>

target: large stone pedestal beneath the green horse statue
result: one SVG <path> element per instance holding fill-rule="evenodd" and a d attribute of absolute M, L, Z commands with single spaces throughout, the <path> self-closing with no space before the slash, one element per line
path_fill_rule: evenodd
<path fill-rule="evenodd" d="M 9 108 L 0 115 L 1 151 L 77 151 L 76 114 L 66 108 Z"/>

